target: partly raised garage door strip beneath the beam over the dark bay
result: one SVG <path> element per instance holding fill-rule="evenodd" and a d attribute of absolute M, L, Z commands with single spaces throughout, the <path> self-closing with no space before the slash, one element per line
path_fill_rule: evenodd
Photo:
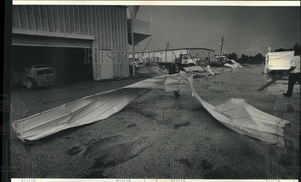
<path fill-rule="evenodd" d="M 91 48 L 91 40 L 13 35 L 12 45 Z"/>

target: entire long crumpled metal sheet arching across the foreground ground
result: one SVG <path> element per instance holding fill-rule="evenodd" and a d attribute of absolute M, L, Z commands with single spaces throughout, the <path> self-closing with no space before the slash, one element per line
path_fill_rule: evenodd
<path fill-rule="evenodd" d="M 63 129 L 108 118 L 125 108 L 130 98 L 137 98 L 151 89 L 159 89 L 190 91 L 209 114 L 229 129 L 267 142 L 284 142 L 286 120 L 264 113 L 247 104 L 244 99 L 230 99 L 222 105 L 213 106 L 198 96 L 192 83 L 191 76 L 182 74 L 142 80 L 14 121 L 14 131 L 21 140 L 36 140 Z"/>

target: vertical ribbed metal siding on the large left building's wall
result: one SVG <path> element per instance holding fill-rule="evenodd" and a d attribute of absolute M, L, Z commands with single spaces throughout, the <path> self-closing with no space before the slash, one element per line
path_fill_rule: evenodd
<path fill-rule="evenodd" d="M 123 51 L 124 53 L 128 50 L 125 7 L 14 5 L 12 14 L 13 28 L 92 35 L 95 36 L 95 41 L 92 41 L 93 48 Z M 41 45 L 42 43 L 39 42 Z M 83 44 L 82 46 L 87 45 Z M 93 56 L 92 59 L 94 59 Z M 121 63 L 117 63 L 117 61 L 121 61 Z M 101 76 L 99 65 L 95 66 L 94 64 L 94 79 L 99 80 Z M 113 68 L 114 76 L 126 77 L 129 75 L 129 65 L 120 54 L 114 55 Z"/>

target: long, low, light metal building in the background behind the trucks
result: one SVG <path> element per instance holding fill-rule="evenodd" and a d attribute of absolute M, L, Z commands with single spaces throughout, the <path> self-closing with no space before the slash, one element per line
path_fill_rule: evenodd
<path fill-rule="evenodd" d="M 209 54 L 215 54 L 215 50 L 206 48 L 182 48 L 182 49 L 169 49 L 169 50 L 156 50 L 145 53 L 135 53 L 135 58 L 142 58 L 144 61 L 152 58 L 155 61 L 162 62 L 173 62 L 176 57 L 180 54 L 188 54 L 190 51 L 191 55 L 196 59 L 204 59 L 205 57 L 210 57 Z M 197 54 L 198 53 L 198 54 Z M 132 54 L 129 54 L 129 58 L 132 58 Z"/>

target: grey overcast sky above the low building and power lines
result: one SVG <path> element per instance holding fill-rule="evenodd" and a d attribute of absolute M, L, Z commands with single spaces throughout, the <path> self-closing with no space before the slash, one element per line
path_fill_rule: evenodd
<path fill-rule="evenodd" d="M 238 57 L 300 44 L 300 7 L 140 6 L 136 19 L 152 21 L 149 51 L 168 41 L 170 49 L 190 44 L 219 51 L 222 36 L 223 51 Z M 139 43 L 142 49 L 149 40 Z"/>

